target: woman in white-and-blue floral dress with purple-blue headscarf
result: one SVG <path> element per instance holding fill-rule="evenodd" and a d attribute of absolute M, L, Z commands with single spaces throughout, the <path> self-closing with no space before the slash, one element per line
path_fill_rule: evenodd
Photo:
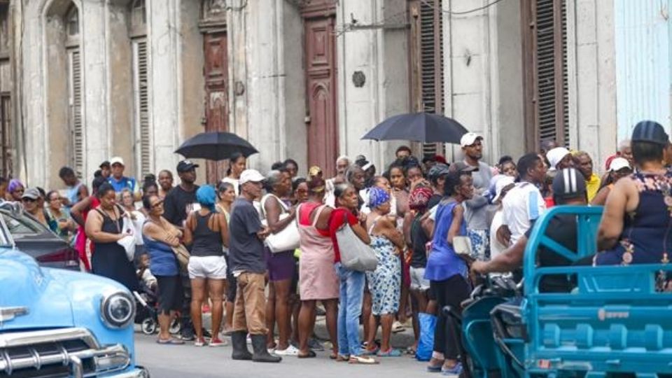
<path fill-rule="evenodd" d="M 404 248 L 404 237 L 388 218 L 390 213 L 390 195 L 381 188 L 369 189 L 369 208 L 366 225 L 371 237 L 371 247 L 378 258 L 378 266 L 374 272 L 367 272 L 369 290 L 372 296 L 372 311 L 369 321 L 366 353 L 376 353 L 380 357 L 397 357 L 401 352 L 392 349 L 390 337 L 392 323 L 399 309 L 401 285 L 401 266 L 399 253 Z M 383 330 L 380 349 L 374 342 L 378 325 Z"/>

